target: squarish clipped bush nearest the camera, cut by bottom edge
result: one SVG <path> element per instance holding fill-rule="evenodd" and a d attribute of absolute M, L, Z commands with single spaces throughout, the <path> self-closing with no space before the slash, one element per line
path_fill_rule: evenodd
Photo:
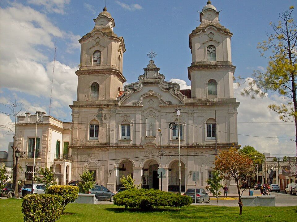
<path fill-rule="evenodd" d="M 32 194 L 24 196 L 22 213 L 24 222 L 54 222 L 62 214 L 62 197 L 51 194 Z"/>

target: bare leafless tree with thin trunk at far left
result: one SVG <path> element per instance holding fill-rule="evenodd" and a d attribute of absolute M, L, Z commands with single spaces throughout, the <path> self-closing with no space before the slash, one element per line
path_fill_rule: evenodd
<path fill-rule="evenodd" d="M 16 118 L 22 114 L 24 114 L 27 109 L 23 109 L 22 105 L 23 102 L 17 102 L 16 99 L 16 93 L 15 93 L 15 100 L 7 102 L 7 104 L 0 103 L 3 106 L 3 109 L 7 109 L 8 111 L 0 110 L 0 113 L 4 113 L 7 116 L 12 116 L 14 118 L 13 124 L 8 125 L 0 125 L 0 129 L 5 129 L 6 132 L 2 134 L 4 135 L 12 135 L 13 136 L 13 146 L 12 148 L 12 174 L 16 175 L 16 178 L 13 180 L 13 187 L 15 187 L 15 198 L 19 198 L 19 189 L 18 189 L 18 183 L 19 181 L 19 174 L 18 174 L 18 166 L 15 164 L 15 150 L 17 149 L 16 145 Z M 2 108 L 1 108 L 2 109 Z"/>

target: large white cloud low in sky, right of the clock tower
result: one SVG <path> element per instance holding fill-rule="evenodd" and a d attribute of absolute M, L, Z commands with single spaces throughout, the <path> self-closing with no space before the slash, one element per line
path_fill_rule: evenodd
<path fill-rule="evenodd" d="M 290 139 L 275 137 L 294 138 L 294 123 L 286 123 L 279 120 L 273 111 L 268 109 L 272 103 L 280 103 L 282 98 L 276 94 L 268 94 L 265 98 L 242 97 L 240 91 L 248 87 L 248 83 L 240 88 L 234 83 L 234 97 L 240 102 L 238 108 L 238 134 L 272 137 L 260 138 L 249 136 L 238 136 L 238 142 L 242 146 L 254 146 L 259 152 L 270 152 L 271 154 L 295 154 L 296 145 Z"/>

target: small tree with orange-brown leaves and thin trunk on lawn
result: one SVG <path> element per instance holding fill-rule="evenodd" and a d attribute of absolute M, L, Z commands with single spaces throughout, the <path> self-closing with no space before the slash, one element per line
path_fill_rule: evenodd
<path fill-rule="evenodd" d="M 215 160 L 215 170 L 218 170 L 225 180 L 235 180 L 238 192 L 239 215 L 242 214 L 242 200 L 240 190 L 243 185 L 255 176 L 255 167 L 251 158 L 247 155 L 240 155 L 238 150 L 230 148 L 230 150 L 222 150 Z"/>

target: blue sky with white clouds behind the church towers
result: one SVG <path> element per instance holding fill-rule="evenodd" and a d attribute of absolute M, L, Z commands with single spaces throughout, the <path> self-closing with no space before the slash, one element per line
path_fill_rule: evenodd
<path fill-rule="evenodd" d="M 136 82 L 154 58 L 166 80 L 191 88 L 187 67 L 191 65 L 188 34 L 199 26 L 199 12 L 206 0 L 106 0 L 113 16 L 114 32 L 123 36 L 126 52 L 123 75 L 127 83 Z M 221 10 L 220 23 L 234 34 L 231 39 L 235 77 L 252 77 L 253 70 L 264 71 L 268 60 L 260 56 L 257 43 L 272 33 L 269 23 L 278 22 L 278 15 L 296 6 L 295 0 L 218 1 L 212 4 Z M 69 105 L 76 99 L 80 63 L 81 36 L 94 27 L 93 19 L 102 11 L 104 0 L 23 0 L 0 2 L 0 102 L 14 100 L 15 94 L 24 109 L 31 113 L 49 114 L 49 100 L 54 64 L 51 116 L 71 121 Z M 198 12 L 199 11 L 199 12 Z M 296 10 L 293 15 L 296 18 Z M 198 21 L 197 21 L 198 20 Z M 126 83 L 126 84 L 127 84 Z M 238 108 L 238 140 L 242 146 L 254 146 L 272 156 L 296 156 L 293 123 L 285 123 L 267 106 L 280 104 L 281 97 L 268 93 L 265 98 L 242 97 L 246 87 L 234 84 Z M 0 110 L 7 109 L 0 104 Z M 0 113 L 0 125 L 10 124 L 10 116 Z M 0 128 L 0 151 L 7 150 L 12 135 Z M 3 135 L 5 134 L 5 135 Z M 284 137 L 284 138 L 281 138 Z"/>

